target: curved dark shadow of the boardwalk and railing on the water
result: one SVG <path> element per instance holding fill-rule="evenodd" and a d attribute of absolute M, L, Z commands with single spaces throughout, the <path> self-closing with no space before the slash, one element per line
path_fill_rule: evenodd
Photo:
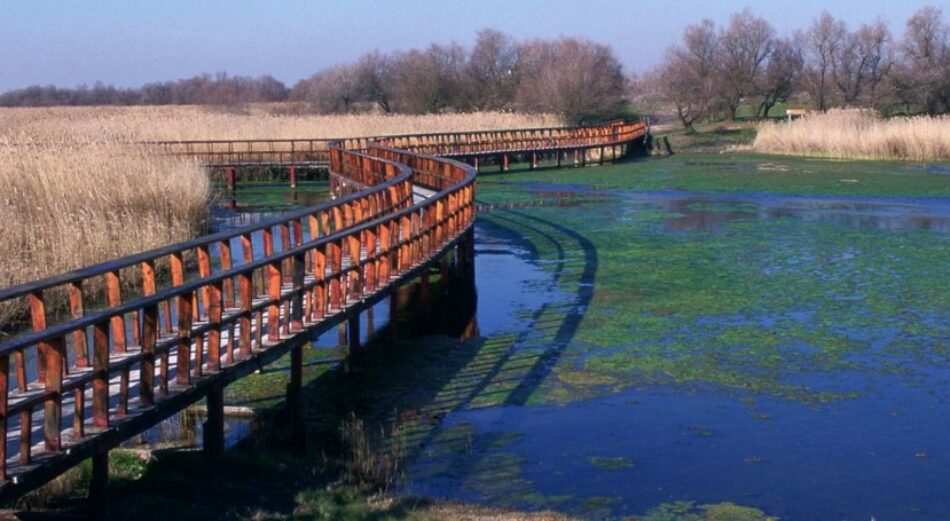
<path fill-rule="evenodd" d="M 340 442 L 341 429 L 346 428 L 343 422 L 359 418 L 369 437 L 380 447 L 398 452 L 394 457 L 405 463 L 439 436 L 446 414 L 486 404 L 524 405 L 551 375 L 593 297 L 597 250 L 582 234 L 524 212 L 499 211 L 492 221 L 480 226 L 510 237 L 528 231 L 550 241 L 554 258 L 545 260 L 554 261 L 556 267 L 549 280 L 558 286 L 570 274 L 576 291 L 566 302 L 543 303 L 528 317 L 529 326 L 514 335 L 469 342 L 446 337 L 372 342 L 355 374 L 327 371 L 305 387 L 310 452 L 349 450 Z M 530 260 L 540 259 L 529 242 L 520 242 Z M 579 266 L 572 257 L 579 257 Z M 563 318 L 546 323 L 552 315 Z M 550 335 L 542 353 L 518 348 L 539 329 Z M 465 473 L 476 464 L 477 457 L 467 458 L 469 468 L 455 470 Z"/>

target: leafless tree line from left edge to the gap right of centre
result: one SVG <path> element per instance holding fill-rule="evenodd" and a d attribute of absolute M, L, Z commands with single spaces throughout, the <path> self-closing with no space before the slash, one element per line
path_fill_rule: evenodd
<path fill-rule="evenodd" d="M 75 89 L 32 86 L 0 94 L 0 106 L 297 101 L 320 113 L 520 110 L 560 113 L 581 122 L 616 110 L 626 86 L 620 61 L 606 45 L 578 38 L 519 42 L 485 29 L 471 49 L 433 44 L 371 52 L 291 88 L 270 76 L 206 74 L 134 89 L 101 83 Z"/>

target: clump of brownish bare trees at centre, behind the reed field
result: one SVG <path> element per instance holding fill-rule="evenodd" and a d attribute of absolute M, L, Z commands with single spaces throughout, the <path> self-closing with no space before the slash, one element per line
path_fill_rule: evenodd
<path fill-rule="evenodd" d="M 468 52 L 434 44 L 366 54 L 297 83 L 290 99 L 327 113 L 520 110 L 581 122 L 616 110 L 625 87 L 620 61 L 606 45 L 576 38 L 518 42 L 486 29 Z"/>

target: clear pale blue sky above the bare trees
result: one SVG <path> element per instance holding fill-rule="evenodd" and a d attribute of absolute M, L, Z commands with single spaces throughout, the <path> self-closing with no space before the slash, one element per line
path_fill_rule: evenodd
<path fill-rule="evenodd" d="M 219 71 L 292 84 L 374 49 L 469 46 L 485 27 L 519 39 L 584 36 L 638 71 L 686 25 L 722 24 L 747 6 L 780 33 L 827 9 L 852 27 L 880 18 L 900 35 L 924 5 L 950 17 L 950 0 L 3 0 L 0 91 L 97 80 L 129 87 Z"/>

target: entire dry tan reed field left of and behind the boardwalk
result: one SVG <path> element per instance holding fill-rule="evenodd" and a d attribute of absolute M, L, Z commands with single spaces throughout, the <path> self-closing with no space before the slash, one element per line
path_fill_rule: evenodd
<path fill-rule="evenodd" d="M 134 145 L 149 140 L 354 137 L 558 126 L 550 115 L 288 113 L 287 105 L 0 109 L 0 287 L 195 236 L 207 174 Z M 97 288 L 85 288 L 95 293 Z M 60 308 L 64 292 L 51 295 Z M 0 330 L 23 304 L 0 304 Z"/>

